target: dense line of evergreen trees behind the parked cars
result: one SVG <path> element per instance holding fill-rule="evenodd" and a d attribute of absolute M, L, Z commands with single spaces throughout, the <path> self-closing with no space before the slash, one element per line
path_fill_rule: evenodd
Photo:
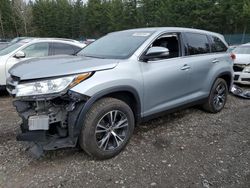
<path fill-rule="evenodd" d="M 111 31 L 160 26 L 250 33 L 250 1 L 0 0 L 0 38 L 97 38 Z"/>

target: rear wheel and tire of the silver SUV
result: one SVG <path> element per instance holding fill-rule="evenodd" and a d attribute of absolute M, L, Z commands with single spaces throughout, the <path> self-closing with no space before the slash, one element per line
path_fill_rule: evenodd
<path fill-rule="evenodd" d="M 207 101 L 203 104 L 203 109 L 210 113 L 220 112 L 227 101 L 228 86 L 224 79 L 217 78 L 213 84 Z"/>

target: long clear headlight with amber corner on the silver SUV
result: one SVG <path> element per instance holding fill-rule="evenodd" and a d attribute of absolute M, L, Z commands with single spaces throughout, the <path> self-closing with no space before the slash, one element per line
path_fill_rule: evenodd
<path fill-rule="evenodd" d="M 35 82 L 19 84 L 16 86 L 16 96 L 33 96 L 41 94 L 60 93 L 72 88 L 83 80 L 87 79 L 91 73 L 54 78 L 49 80 L 38 80 Z"/>

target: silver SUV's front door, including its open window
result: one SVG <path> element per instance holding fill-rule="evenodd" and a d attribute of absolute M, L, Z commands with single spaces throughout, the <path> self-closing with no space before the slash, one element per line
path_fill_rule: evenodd
<path fill-rule="evenodd" d="M 180 34 L 164 34 L 152 46 L 168 48 L 169 56 L 141 63 L 144 79 L 143 116 L 179 106 L 189 87 L 190 67 L 180 57 Z"/>

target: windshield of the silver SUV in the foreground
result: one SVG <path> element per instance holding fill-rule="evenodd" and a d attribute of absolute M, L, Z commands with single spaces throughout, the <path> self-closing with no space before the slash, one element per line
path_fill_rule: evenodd
<path fill-rule="evenodd" d="M 104 59 L 127 59 L 152 32 L 122 31 L 108 34 L 86 46 L 77 55 Z"/>

